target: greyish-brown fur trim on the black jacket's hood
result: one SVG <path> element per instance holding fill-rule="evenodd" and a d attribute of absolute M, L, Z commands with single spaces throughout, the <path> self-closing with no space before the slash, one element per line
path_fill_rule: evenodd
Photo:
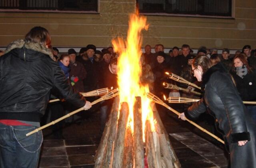
<path fill-rule="evenodd" d="M 16 41 L 13 41 L 12 43 L 10 43 L 5 50 L 5 53 L 10 52 L 13 49 L 21 49 L 22 47 L 25 47 L 26 49 L 31 49 L 34 51 L 38 51 L 40 53 L 44 53 L 46 55 L 49 55 L 50 58 L 53 61 L 56 61 L 56 59 L 54 58 L 53 54 L 52 54 L 52 50 L 46 48 L 44 45 L 40 45 L 39 43 L 33 43 L 33 42 L 29 42 L 29 41 L 24 41 L 23 39 L 19 39 Z"/>

